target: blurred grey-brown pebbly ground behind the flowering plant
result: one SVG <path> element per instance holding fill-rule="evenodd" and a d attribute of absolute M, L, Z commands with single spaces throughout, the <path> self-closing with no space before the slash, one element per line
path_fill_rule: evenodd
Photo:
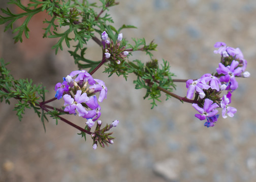
<path fill-rule="evenodd" d="M 25 0 L 21 0 L 24 4 Z M 7 7 L 7 0 L 0 2 Z M 249 78 L 239 78 L 233 93 L 233 118 L 219 118 L 214 127 L 194 117 L 190 104 L 171 99 L 154 109 L 143 100 L 145 90 L 134 89 L 131 75 L 127 81 L 99 72 L 108 87 L 102 104 L 103 123 L 120 121 L 114 128 L 114 144 L 92 149 L 92 141 L 81 139 L 78 130 L 49 119 L 44 132 L 40 118 L 26 110 L 20 122 L 11 105 L 0 104 L 0 181 L 256 181 L 255 59 L 256 1 L 253 0 L 130 0 L 110 8 L 114 26 L 131 24 L 138 29 L 123 30 L 123 37 L 145 37 L 158 44 L 154 58 L 168 60 L 177 79 L 195 79 L 218 67 L 216 41 L 239 47 L 248 62 Z M 17 13 L 17 8 L 8 6 Z M 43 39 L 45 13 L 34 17 L 29 39 L 16 43 L 11 31 L 0 26 L 0 57 L 16 79 L 32 78 L 47 87 L 46 99 L 54 97 L 54 85 L 76 70 L 67 52 L 55 56 L 55 39 Z M 22 23 L 22 22 L 19 22 Z M 61 30 L 60 30 L 61 31 Z M 101 49 L 88 44 L 87 58 L 101 59 Z M 100 57 L 99 57 L 100 56 Z M 132 59 L 148 61 L 144 53 Z M 184 83 L 177 83 L 176 94 L 185 96 Z M 55 101 L 53 106 L 61 106 Z M 78 116 L 67 116 L 84 126 Z"/>

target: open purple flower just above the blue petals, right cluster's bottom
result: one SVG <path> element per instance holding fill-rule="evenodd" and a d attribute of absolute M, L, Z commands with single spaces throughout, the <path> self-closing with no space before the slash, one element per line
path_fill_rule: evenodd
<path fill-rule="evenodd" d="M 192 106 L 201 114 L 195 114 L 200 120 L 205 120 L 206 117 L 212 117 L 217 114 L 218 111 L 215 109 L 219 107 L 218 104 L 213 103 L 210 99 L 205 99 L 204 108 L 199 107 L 198 104 L 192 104 Z"/>

